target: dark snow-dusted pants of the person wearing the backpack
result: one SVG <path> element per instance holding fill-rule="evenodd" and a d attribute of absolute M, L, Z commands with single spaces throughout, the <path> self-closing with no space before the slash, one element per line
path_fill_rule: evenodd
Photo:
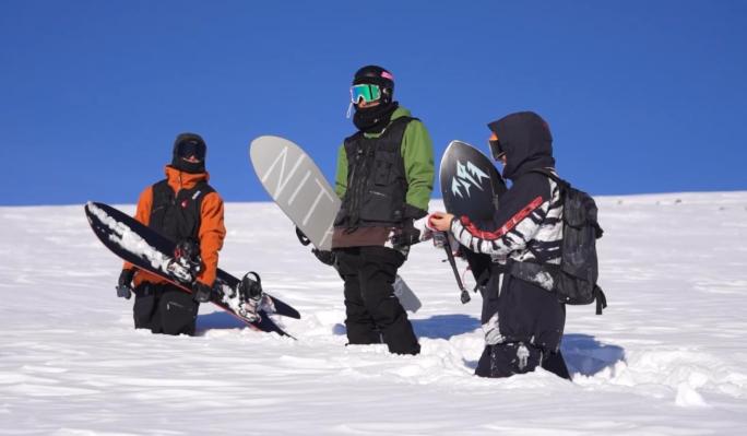
<path fill-rule="evenodd" d="M 560 354 L 560 339 L 566 325 L 566 306 L 542 287 L 503 274 L 499 287 L 500 267 L 491 268 L 490 280 L 483 288 L 482 323 L 496 313 L 503 342 L 485 345 L 475 375 L 510 377 L 542 366 L 559 377 L 570 379 Z"/>

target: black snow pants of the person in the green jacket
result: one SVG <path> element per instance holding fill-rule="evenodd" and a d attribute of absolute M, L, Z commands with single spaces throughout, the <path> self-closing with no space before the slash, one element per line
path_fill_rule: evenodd
<path fill-rule="evenodd" d="M 349 344 L 383 342 L 395 354 L 418 354 L 407 314 L 392 284 L 405 257 L 387 247 L 335 249 L 339 272 L 345 281 L 345 327 Z"/>

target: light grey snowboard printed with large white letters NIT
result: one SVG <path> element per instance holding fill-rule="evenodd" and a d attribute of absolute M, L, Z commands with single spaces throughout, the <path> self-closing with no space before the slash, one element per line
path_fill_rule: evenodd
<path fill-rule="evenodd" d="M 285 138 L 264 135 L 251 141 L 249 158 L 260 182 L 281 210 L 315 247 L 330 250 L 341 201 L 311 157 Z M 416 313 L 422 306 L 399 275 L 394 295 L 405 310 Z"/>

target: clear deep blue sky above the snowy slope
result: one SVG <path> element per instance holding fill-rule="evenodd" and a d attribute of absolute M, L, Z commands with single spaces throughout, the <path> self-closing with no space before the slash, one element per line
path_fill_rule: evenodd
<path fill-rule="evenodd" d="M 332 178 L 368 63 L 394 73 L 437 162 L 531 109 L 594 195 L 745 190 L 745 23 L 726 0 L 5 0 L 0 204 L 133 203 L 181 131 L 205 138 L 227 201 L 269 199 L 248 161 L 260 134 Z"/>

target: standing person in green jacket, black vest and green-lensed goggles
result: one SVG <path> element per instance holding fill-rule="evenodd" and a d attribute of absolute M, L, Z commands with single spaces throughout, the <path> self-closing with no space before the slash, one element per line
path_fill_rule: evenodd
<path fill-rule="evenodd" d="M 410 246 L 413 222 L 425 217 L 434 184 L 432 142 L 423 122 L 393 99 L 394 76 L 378 66 L 360 68 L 351 87 L 358 131 L 339 151 L 335 192 L 342 199 L 332 252 L 345 282 L 349 344 L 382 341 L 395 354 L 420 345 L 392 283 Z"/>

